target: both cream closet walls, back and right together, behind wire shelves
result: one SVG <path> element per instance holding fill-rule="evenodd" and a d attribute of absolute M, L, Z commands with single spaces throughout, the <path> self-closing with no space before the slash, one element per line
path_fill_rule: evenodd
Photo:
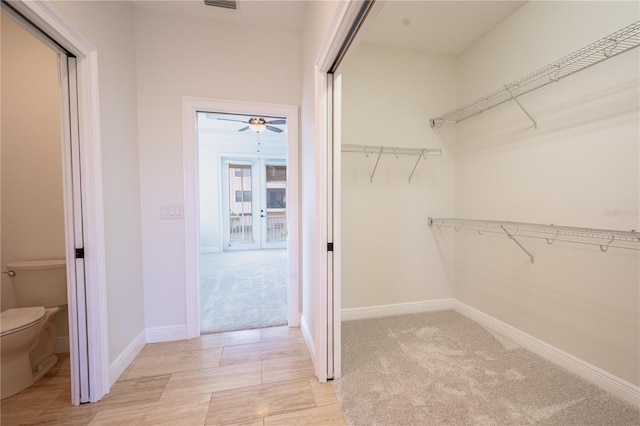
<path fill-rule="evenodd" d="M 635 2 L 529 2 L 456 58 L 363 44 L 343 143 L 443 148 L 418 166 L 342 155 L 342 307 L 452 297 L 640 384 L 637 251 L 427 226 L 427 217 L 640 229 L 638 50 L 438 129 L 444 114 L 638 19 Z"/>

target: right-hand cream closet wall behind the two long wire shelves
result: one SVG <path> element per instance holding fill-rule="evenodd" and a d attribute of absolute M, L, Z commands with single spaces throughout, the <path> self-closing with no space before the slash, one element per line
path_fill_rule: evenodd
<path fill-rule="evenodd" d="M 458 101 L 632 23 L 637 2 L 530 2 L 458 58 Z M 640 229 L 637 49 L 457 132 L 456 216 Z M 442 111 L 444 113 L 446 111 Z M 446 231 L 438 231 L 444 233 Z M 450 231 L 448 231 L 450 232 Z M 542 341 L 640 384 L 638 252 L 460 232 L 453 295 Z"/>

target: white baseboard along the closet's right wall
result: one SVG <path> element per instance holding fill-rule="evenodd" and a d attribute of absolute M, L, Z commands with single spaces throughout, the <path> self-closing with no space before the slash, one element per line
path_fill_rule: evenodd
<path fill-rule="evenodd" d="M 530 334 L 510 326 L 490 315 L 485 314 L 458 300 L 454 300 L 454 309 L 497 333 L 508 337 L 525 349 L 536 353 L 548 361 L 571 371 L 588 382 L 624 399 L 625 401 L 640 407 L 640 387 L 627 382 L 611 373 L 608 373 L 595 365 L 589 364 L 575 356 L 551 346 Z"/>

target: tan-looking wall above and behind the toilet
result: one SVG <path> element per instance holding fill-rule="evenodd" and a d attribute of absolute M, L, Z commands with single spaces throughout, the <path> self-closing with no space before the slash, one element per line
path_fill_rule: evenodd
<path fill-rule="evenodd" d="M 58 55 L 2 13 L 2 270 L 21 260 L 64 259 Z M 2 275 L 2 310 L 15 308 Z M 69 336 L 56 317 L 58 338 Z"/>

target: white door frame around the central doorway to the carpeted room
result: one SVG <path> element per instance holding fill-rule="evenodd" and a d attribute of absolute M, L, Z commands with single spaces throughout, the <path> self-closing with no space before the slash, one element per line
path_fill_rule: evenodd
<path fill-rule="evenodd" d="M 198 129 L 199 111 L 238 115 L 265 115 L 287 119 L 288 185 L 288 313 L 289 327 L 300 326 L 300 184 L 298 149 L 298 107 L 294 105 L 230 101 L 185 96 L 182 98 L 182 140 L 184 167 L 184 226 L 187 338 L 200 336 L 200 218 L 198 205 Z"/>

